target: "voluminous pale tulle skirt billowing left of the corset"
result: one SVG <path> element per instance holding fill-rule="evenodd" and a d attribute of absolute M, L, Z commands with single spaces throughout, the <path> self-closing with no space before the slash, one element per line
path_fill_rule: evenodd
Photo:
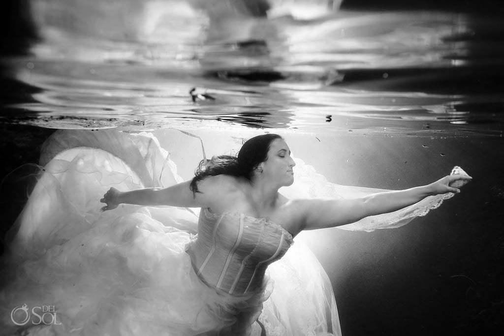
<path fill-rule="evenodd" d="M 196 276 L 185 253 L 194 214 L 129 205 L 100 213 L 109 186 L 135 189 L 141 181 L 102 150 L 63 157 L 69 161 L 57 156 L 45 166 L 17 222 L 0 296 L 6 330 L 22 304 L 54 305 L 61 324 L 35 328 L 61 335 L 234 334 L 240 314 L 261 311 L 265 289 L 229 296 Z M 109 165 L 111 174 L 100 169 Z"/>

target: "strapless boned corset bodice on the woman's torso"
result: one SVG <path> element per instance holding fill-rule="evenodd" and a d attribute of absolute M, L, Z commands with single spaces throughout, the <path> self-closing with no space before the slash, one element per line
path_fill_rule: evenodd
<path fill-rule="evenodd" d="M 266 267 L 292 245 L 292 235 L 266 219 L 202 209 L 198 236 L 187 250 L 200 279 L 229 294 L 262 287 Z"/>

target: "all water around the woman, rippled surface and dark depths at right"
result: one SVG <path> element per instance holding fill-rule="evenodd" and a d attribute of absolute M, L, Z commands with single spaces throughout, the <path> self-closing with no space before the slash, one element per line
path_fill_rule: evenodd
<path fill-rule="evenodd" d="M 33 21 L 28 2 L 2 4 L 2 176 L 38 162 L 57 128 L 309 135 L 300 157 L 318 172 L 377 188 L 429 183 L 460 165 L 473 182 L 435 213 L 395 230 L 314 232 L 311 247 L 344 335 L 504 331 L 497 2 L 349 0 L 309 21 L 180 5 L 150 28 L 135 21 L 134 2 L 49 3 Z M 193 102 L 193 87 L 215 100 Z M 20 192 L 2 186 L 3 230 Z"/>

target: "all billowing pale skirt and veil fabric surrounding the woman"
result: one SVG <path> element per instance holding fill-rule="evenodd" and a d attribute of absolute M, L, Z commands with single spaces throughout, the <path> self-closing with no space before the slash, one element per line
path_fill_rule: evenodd
<path fill-rule="evenodd" d="M 100 212 L 99 199 L 112 186 L 127 191 L 182 180 L 152 135 L 59 130 L 40 162 L 38 182 L 7 235 L 0 292 L 6 332 L 239 335 L 257 334 L 258 319 L 267 335 L 341 335 L 329 278 L 301 241 L 268 266 L 254 290 L 230 294 L 195 271 L 190 252 L 205 216 L 199 210 L 120 205 Z M 384 191 L 338 186 L 296 162 L 298 181 L 284 192 L 290 197 Z M 450 196 L 346 229 L 404 225 Z M 272 234 L 272 242 L 280 236 Z M 42 321 L 34 309 L 41 315 L 43 306 L 52 308 Z"/>

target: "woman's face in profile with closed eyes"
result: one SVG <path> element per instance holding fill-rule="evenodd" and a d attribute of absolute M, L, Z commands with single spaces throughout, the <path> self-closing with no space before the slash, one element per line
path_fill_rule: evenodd
<path fill-rule="evenodd" d="M 268 160 L 260 164 L 263 175 L 280 186 L 288 186 L 294 182 L 294 167 L 296 163 L 290 157 L 289 146 L 282 139 L 275 139 L 270 144 Z"/>

